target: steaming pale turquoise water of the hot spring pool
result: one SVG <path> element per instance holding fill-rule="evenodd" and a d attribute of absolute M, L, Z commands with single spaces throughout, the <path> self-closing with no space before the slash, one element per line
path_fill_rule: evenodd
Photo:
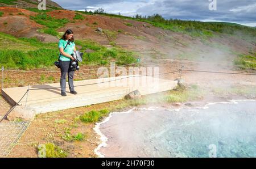
<path fill-rule="evenodd" d="M 256 102 L 113 113 L 105 157 L 256 157 Z"/>

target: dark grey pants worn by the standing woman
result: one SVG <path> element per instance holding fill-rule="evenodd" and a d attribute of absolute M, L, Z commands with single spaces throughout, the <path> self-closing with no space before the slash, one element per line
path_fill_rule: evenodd
<path fill-rule="evenodd" d="M 60 61 L 60 87 L 61 87 L 61 92 L 66 92 L 66 79 L 67 79 L 67 74 L 68 74 L 68 86 L 69 86 L 69 91 L 74 91 L 74 74 L 75 71 L 72 71 L 70 69 L 70 61 Z"/>

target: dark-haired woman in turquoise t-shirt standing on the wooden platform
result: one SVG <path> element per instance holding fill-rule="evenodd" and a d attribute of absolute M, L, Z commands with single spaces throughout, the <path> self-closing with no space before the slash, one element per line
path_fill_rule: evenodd
<path fill-rule="evenodd" d="M 60 87 L 61 87 L 61 96 L 67 96 L 66 94 L 66 78 L 68 74 L 68 85 L 69 91 L 71 94 L 76 95 L 77 92 L 74 88 L 73 78 L 75 71 L 71 70 L 71 60 L 75 60 L 71 54 L 76 51 L 76 45 L 74 43 L 73 31 L 68 29 L 59 41 L 59 50 L 60 50 Z"/>

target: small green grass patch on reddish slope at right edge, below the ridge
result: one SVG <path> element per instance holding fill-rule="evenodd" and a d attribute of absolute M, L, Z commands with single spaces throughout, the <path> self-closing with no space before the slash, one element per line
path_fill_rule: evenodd
<path fill-rule="evenodd" d="M 256 53 L 240 54 L 238 58 L 234 61 L 240 69 L 251 69 L 256 70 Z"/>

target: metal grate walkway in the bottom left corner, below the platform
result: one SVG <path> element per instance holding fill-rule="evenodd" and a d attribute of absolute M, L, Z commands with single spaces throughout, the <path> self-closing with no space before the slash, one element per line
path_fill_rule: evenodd
<path fill-rule="evenodd" d="M 0 123 L 0 157 L 10 154 L 28 125 L 30 121 Z"/>

